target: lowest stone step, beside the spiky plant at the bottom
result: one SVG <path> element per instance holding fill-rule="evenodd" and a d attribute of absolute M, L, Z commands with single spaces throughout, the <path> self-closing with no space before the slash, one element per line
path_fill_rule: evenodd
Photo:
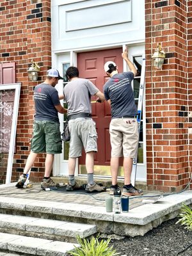
<path fill-rule="evenodd" d="M 18 252 L 40 256 L 64 256 L 68 251 L 73 250 L 74 246 L 79 246 L 79 244 L 0 232 L 0 250 L 8 250 L 14 253 Z"/>

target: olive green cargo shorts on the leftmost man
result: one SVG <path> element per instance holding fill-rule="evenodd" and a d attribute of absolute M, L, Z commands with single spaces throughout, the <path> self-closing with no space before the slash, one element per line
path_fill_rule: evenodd
<path fill-rule="evenodd" d="M 35 121 L 31 151 L 34 153 L 60 154 L 62 152 L 60 124 L 52 121 Z"/>

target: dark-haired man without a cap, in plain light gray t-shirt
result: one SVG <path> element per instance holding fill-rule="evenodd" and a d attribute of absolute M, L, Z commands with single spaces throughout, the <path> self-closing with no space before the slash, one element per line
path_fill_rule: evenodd
<path fill-rule="evenodd" d="M 79 189 L 74 178 L 76 159 L 86 152 L 86 171 L 88 192 L 105 191 L 106 188 L 93 180 L 94 153 L 97 152 L 97 132 L 95 122 L 92 120 L 91 97 L 97 95 L 99 101 L 104 100 L 104 94 L 88 79 L 79 78 L 79 70 L 69 67 L 66 72 L 69 83 L 65 85 L 64 97 L 68 104 L 67 117 L 70 131 L 70 148 L 68 154 L 69 180 L 67 191 Z M 60 98 L 61 99 L 61 98 Z"/>

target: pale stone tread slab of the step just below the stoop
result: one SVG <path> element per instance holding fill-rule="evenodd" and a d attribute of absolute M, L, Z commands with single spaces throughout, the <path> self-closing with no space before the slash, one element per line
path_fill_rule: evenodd
<path fill-rule="evenodd" d="M 77 237 L 79 235 L 81 238 L 92 236 L 97 232 L 95 225 L 10 214 L 0 214 L 0 228 L 12 228 L 67 237 Z"/>

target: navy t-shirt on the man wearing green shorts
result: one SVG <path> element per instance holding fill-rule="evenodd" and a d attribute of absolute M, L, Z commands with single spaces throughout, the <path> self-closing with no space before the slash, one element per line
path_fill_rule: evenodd
<path fill-rule="evenodd" d="M 34 90 L 35 120 L 60 122 L 54 106 L 60 104 L 58 91 L 50 84 L 38 84 Z"/>

